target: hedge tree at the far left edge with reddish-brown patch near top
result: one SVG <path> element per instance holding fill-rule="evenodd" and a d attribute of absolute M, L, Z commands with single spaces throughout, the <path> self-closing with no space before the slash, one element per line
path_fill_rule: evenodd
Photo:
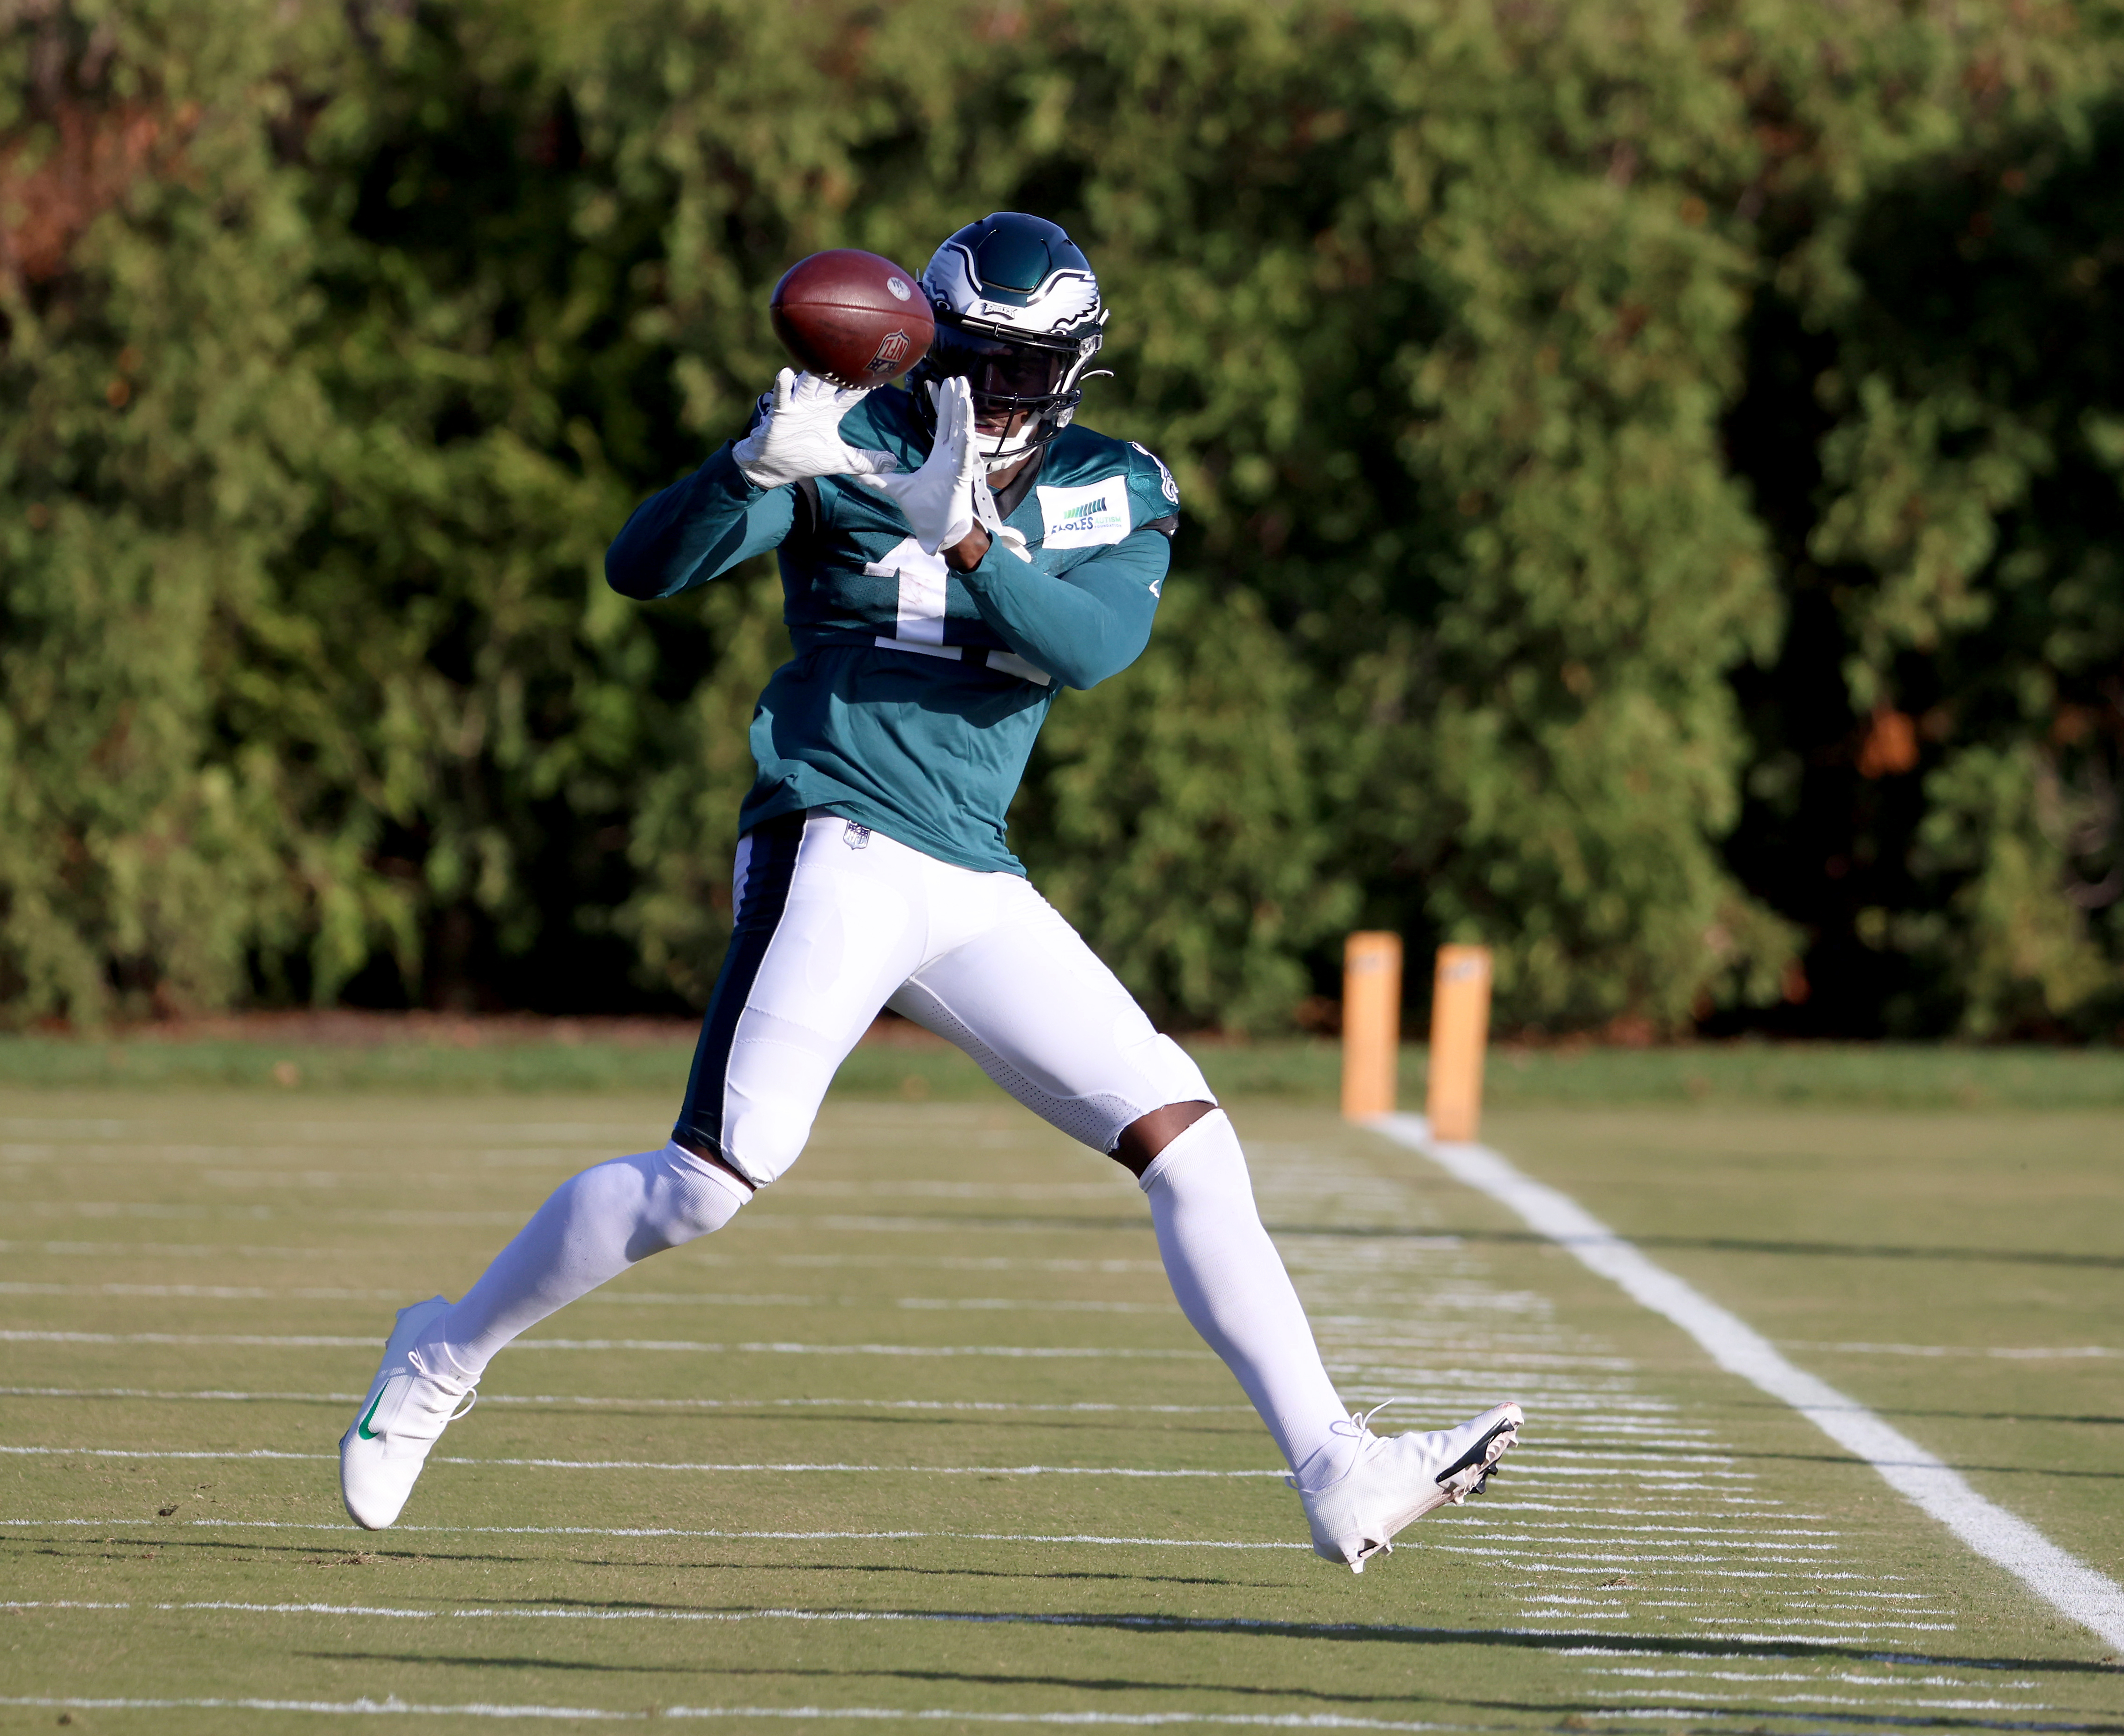
<path fill-rule="evenodd" d="M 314 253 L 274 157 L 299 32 L 57 13 L 6 42 L 0 1004 L 221 1002 L 323 932 L 274 741 L 221 730 L 336 437 Z"/>

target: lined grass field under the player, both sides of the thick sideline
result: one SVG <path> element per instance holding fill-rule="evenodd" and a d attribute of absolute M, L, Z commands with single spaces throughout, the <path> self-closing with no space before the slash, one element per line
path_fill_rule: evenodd
<path fill-rule="evenodd" d="M 1527 1405 L 1361 1579 L 1300 1547 L 1130 1180 L 992 1093 L 830 1101 L 729 1231 L 497 1360 L 365 1534 L 331 1454 L 391 1309 L 656 1144 L 669 1089 L 0 1089 L 0 1730 L 2124 1732 L 2099 1640 L 1502 1208 L 1313 1104 L 1234 1114 L 1347 1396 Z M 2124 1118 L 1485 1138 L 2124 1573 Z"/>

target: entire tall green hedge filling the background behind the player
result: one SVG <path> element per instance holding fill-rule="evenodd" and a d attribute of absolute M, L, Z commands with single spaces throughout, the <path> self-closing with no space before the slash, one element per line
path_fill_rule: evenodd
<path fill-rule="evenodd" d="M 1187 511 L 1017 811 L 1162 1019 L 1353 921 L 1519 1027 L 2124 1010 L 2103 6 L 6 17 L 13 1019 L 699 1002 L 773 579 L 601 550 L 790 259 L 1009 206 Z"/>

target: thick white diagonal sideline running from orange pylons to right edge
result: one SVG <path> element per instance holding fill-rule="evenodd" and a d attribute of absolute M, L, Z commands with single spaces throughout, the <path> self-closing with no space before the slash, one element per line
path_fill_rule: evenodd
<path fill-rule="evenodd" d="M 1665 1316 L 1725 1371 L 1782 1399 L 1846 1452 L 1871 1464 L 1888 1488 L 1914 1500 L 1963 1543 L 1997 1562 L 2060 1615 L 2124 1647 L 2124 1587 L 2069 1556 L 2026 1520 L 1986 1500 L 1937 1454 L 1890 1428 L 1856 1399 L 1797 1369 L 1740 1316 L 1652 1265 L 1565 1193 L 1514 1169 L 1487 1146 L 1432 1140 L 1421 1116 L 1389 1114 L 1370 1123 L 1395 1144 L 1423 1152 L 1459 1182 L 1508 1205 L 1521 1220 L 1570 1252 L 1589 1271 L 1618 1284 L 1633 1301 Z"/>

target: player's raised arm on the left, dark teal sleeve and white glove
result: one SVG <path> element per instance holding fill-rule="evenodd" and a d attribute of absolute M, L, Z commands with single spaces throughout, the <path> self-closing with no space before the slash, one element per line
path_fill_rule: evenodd
<path fill-rule="evenodd" d="M 792 484 L 892 463 L 841 439 L 860 399 L 784 367 L 743 439 L 635 507 L 605 550 L 605 581 L 622 596 L 675 596 L 775 548 L 796 520 Z"/>

